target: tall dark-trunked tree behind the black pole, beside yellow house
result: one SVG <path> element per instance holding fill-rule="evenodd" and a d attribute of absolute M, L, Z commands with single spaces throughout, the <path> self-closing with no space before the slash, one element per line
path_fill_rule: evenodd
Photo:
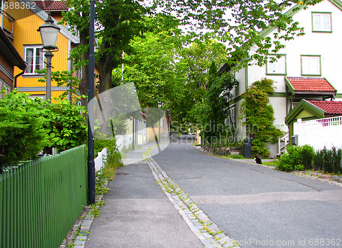
<path fill-rule="evenodd" d="M 80 44 L 73 49 L 75 70 L 82 69 L 79 90 L 88 95 L 88 57 L 89 57 L 89 26 L 90 2 L 66 0 L 70 10 L 63 14 L 62 23 L 67 23 L 70 30 L 80 37 Z M 148 9 L 138 1 L 101 0 L 96 1 L 96 38 L 99 41 L 96 51 L 96 64 L 99 70 L 99 92 L 111 88 L 111 73 L 120 63 L 122 51 L 129 51 L 129 42 L 140 36 L 144 29 L 142 16 Z M 86 105 L 86 101 L 83 101 Z"/>

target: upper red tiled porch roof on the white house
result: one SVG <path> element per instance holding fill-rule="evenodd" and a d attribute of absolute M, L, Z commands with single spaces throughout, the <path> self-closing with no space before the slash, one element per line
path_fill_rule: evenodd
<path fill-rule="evenodd" d="M 325 79 L 319 77 L 287 77 L 295 91 L 334 92 L 334 87 Z"/>

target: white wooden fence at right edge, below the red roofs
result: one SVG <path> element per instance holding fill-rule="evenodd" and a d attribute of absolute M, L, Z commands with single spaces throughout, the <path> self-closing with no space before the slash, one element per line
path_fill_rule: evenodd
<path fill-rule="evenodd" d="M 311 145 L 315 150 L 342 147 L 342 116 L 293 123 L 298 145 Z"/>

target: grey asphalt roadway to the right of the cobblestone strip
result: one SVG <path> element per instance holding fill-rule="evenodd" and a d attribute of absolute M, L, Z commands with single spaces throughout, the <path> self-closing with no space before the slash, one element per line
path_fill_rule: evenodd
<path fill-rule="evenodd" d="M 210 156 L 191 136 L 153 158 L 240 247 L 342 247 L 341 187 Z"/>

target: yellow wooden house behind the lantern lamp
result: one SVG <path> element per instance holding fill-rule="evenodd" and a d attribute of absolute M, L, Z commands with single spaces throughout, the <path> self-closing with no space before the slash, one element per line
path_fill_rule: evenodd
<path fill-rule="evenodd" d="M 35 72 L 36 69 L 45 68 L 42 40 L 37 29 L 45 23 L 48 12 L 51 12 L 53 21 L 57 24 L 62 18 L 62 12 L 68 7 L 62 1 L 29 1 L 29 0 L 0 0 L 1 1 L 1 27 L 8 35 L 12 44 L 27 63 L 24 71 L 16 68 L 16 82 L 14 87 L 19 91 L 27 92 L 32 97 L 45 99 L 46 84 L 38 82 L 43 75 Z M 68 60 L 70 50 L 79 44 L 79 37 L 73 36 L 63 25 L 57 39 L 58 51 L 53 53 L 52 71 L 68 71 L 72 63 Z M 67 90 L 66 86 L 58 87 L 51 82 L 51 99 L 59 97 Z M 70 97 L 69 97 L 70 99 Z"/>

